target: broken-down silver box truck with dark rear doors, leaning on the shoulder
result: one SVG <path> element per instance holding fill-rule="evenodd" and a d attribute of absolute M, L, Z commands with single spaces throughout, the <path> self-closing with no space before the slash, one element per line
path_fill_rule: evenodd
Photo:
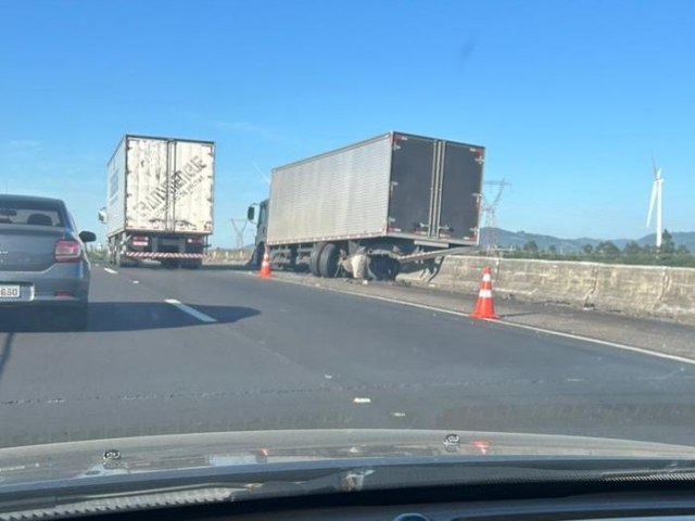
<path fill-rule="evenodd" d="M 267 246 L 276 266 L 388 279 L 477 245 L 484 152 L 394 131 L 275 168 L 254 260 Z"/>

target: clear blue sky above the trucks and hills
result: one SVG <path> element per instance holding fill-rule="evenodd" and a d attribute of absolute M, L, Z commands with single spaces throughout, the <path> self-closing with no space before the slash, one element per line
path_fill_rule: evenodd
<path fill-rule="evenodd" d="M 268 171 L 391 129 L 488 148 L 498 225 L 695 230 L 692 1 L 0 0 L 0 190 L 101 232 L 125 132 L 217 143 L 213 244 Z M 251 239 L 249 234 L 248 240 Z"/>

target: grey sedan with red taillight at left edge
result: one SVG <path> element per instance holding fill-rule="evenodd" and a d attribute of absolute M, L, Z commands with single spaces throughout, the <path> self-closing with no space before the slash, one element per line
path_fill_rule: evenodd
<path fill-rule="evenodd" d="M 0 194 L 0 308 L 52 307 L 68 329 L 87 328 L 90 265 L 58 199 Z"/>

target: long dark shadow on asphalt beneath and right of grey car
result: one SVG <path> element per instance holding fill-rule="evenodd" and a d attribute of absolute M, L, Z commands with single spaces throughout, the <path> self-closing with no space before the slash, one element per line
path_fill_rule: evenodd
<path fill-rule="evenodd" d="M 214 326 L 215 323 L 233 323 L 261 314 L 257 309 L 239 306 L 191 305 L 190 307 L 214 318 L 216 322 L 201 321 L 164 302 L 92 302 L 89 304 L 87 332 Z M 70 332 L 71 329 L 66 325 L 64 316 L 52 309 L 12 309 L 8 313 L 3 312 L 0 317 L 0 332 L 48 333 L 56 331 Z M 7 346 L 4 351 L 8 351 Z M 3 356 L 2 353 L 0 356 Z M 0 358 L 0 364 L 3 358 Z"/>

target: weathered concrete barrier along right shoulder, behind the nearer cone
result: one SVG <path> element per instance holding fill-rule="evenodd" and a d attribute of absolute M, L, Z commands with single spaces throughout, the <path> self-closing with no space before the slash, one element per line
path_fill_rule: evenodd
<path fill-rule="evenodd" d="M 494 294 L 695 322 L 695 269 L 448 256 L 437 274 L 403 274 L 410 283 L 475 294 L 490 266 Z"/>

